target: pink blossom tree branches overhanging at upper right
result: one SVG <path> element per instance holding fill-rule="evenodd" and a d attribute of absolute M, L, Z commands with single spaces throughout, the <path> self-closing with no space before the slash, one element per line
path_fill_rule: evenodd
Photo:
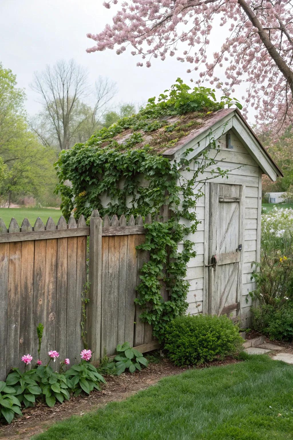
<path fill-rule="evenodd" d="M 104 2 L 106 8 L 118 0 Z M 228 37 L 220 51 L 208 55 L 208 47 Z M 113 25 L 96 35 L 87 52 L 116 48 L 119 55 L 132 47 L 140 57 L 137 66 L 151 66 L 152 58 L 176 56 L 196 72 L 196 83 L 209 81 L 226 95 L 246 82 L 243 100 L 257 110 L 257 122 L 276 133 L 293 122 L 293 1 L 291 0 L 132 0 L 122 1 Z M 217 76 L 223 69 L 224 83 Z M 194 74 L 195 75 L 195 74 Z M 247 108 L 246 108 L 247 110 Z"/>

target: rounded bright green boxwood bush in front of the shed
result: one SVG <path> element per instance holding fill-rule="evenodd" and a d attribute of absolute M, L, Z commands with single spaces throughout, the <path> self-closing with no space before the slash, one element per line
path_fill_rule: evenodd
<path fill-rule="evenodd" d="M 242 342 L 238 326 L 226 316 L 178 316 L 165 334 L 167 356 L 179 367 L 236 355 Z"/>

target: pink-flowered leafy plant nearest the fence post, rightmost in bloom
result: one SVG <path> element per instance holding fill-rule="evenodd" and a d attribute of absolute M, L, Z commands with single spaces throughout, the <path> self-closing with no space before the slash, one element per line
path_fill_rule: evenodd
<path fill-rule="evenodd" d="M 74 396 L 78 396 L 83 391 L 90 394 L 94 388 L 101 390 L 100 383 L 106 383 L 103 376 L 101 376 L 97 369 L 90 364 L 89 361 L 91 354 L 90 350 L 84 349 L 80 353 L 82 359 L 81 362 L 73 365 L 69 370 L 65 371 L 65 377 L 71 384 Z"/>

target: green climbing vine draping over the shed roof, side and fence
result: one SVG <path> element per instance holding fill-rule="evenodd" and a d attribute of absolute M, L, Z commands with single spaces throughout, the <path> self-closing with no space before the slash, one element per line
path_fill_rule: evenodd
<path fill-rule="evenodd" d="M 209 168 L 211 178 L 228 174 L 217 166 L 217 145 L 212 137 L 201 157 L 192 158 L 191 148 L 179 160 L 169 161 L 162 153 L 203 125 L 213 111 L 232 103 L 228 97 L 217 102 L 209 88 L 191 91 L 178 78 L 157 102 L 149 99 L 137 115 L 62 151 L 55 164 L 59 177 L 56 191 L 61 194 L 65 218 L 73 212 L 76 218 L 83 214 L 89 219 L 93 209 L 101 216 L 155 216 L 163 205 L 169 206 L 171 218 L 166 223 L 146 224 L 145 243 L 138 246 L 148 250 L 150 258 L 141 269 L 136 302 L 142 309 L 141 318 L 152 324 L 159 341 L 166 323 L 184 313 L 188 305 L 189 283 L 184 277 L 188 261 L 196 254 L 193 242 L 184 237 L 194 233 L 200 223 L 195 206 L 203 196 L 203 172 Z M 209 157 L 211 149 L 216 150 L 213 158 Z M 181 218 L 186 225 L 179 223 Z M 181 252 L 179 242 L 183 244 Z M 168 301 L 161 296 L 163 284 Z"/>

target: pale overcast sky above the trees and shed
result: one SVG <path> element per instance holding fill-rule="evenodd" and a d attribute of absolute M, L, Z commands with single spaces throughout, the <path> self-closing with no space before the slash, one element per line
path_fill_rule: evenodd
<path fill-rule="evenodd" d="M 87 54 L 94 41 L 88 32 L 98 33 L 112 22 L 113 9 L 102 6 L 103 0 L 0 0 L 0 61 L 17 75 L 18 86 L 25 88 L 26 108 L 30 115 L 40 110 L 38 96 L 29 89 L 34 71 L 59 59 L 75 59 L 89 71 L 92 83 L 99 75 L 117 83 L 116 103 L 145 103 L 158 96 L 177 77 L 189 83 L 186 63 L 175 57 L 162 62 L 152 61 L 152 67 L 136 67 L 138 57 L 130 51 L 116 55 L 115 51 Z M 221 33 L 223 28 L 221 28 Z M 223 77 L 224 80 L 224 77 Z M 192 84 L 190 84 L 192 85 Z M 235 92 L 241 99 L 242 90 Z"/>

